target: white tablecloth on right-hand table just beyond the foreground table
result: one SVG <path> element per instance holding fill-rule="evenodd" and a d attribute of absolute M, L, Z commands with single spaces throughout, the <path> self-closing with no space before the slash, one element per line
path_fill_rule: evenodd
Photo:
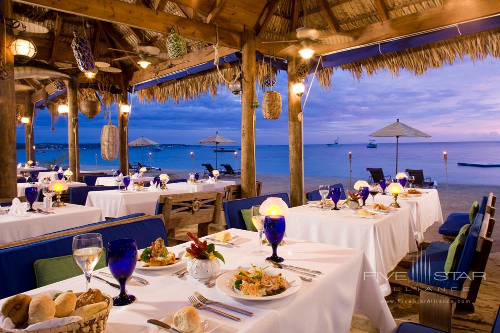
<path fill-rule="evenodd" d="M 412 214 L 407 207 L 373 219 L 354 217 L 353 213 L 348 208 L 324 212 L 308 205 L 291 208 L 286 236 L 363 251 L 374 269 L 371 276 L 387 296 L 391 291 L 387 273 L 408 252 L 417 250 Z"/>

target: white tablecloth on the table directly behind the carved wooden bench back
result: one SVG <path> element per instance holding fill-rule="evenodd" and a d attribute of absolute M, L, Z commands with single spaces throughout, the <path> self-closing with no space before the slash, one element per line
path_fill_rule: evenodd
<path fill-rule="evenodd" d="M 99 207 L 104 217 L 120 217 L 133 213 L 154 214 L 160 195 L 185 193 L 184 190 L 160 190 L 158 192 L 121 190 L 90 191 L 85 206 Z"/>

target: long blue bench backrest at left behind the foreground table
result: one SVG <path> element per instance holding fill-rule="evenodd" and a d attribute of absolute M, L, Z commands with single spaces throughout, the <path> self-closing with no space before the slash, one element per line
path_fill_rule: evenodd
<path fill-rule="evenodd" d="M 109 222 L 112 220 L 92 224 L 92 226 L 103 224 L 101 228 L 97 227 L 92 232 L 102 235 L 104 245 L 118 238 L 134 238 L 137 248 L 143 249 L 158 237 L 167 239 L 165 226 L 160 218 L 106 226 Z M 69 235 L 0 249 L 0 272 L 8 272 L 2 276 L 0 299 L 36 288 L 33 263 L 39 259 L 70 255 L 73 236 L 80 234 L 80 228 L 87 226 L 89 225 L 69 229 L 74 230 Z"/>

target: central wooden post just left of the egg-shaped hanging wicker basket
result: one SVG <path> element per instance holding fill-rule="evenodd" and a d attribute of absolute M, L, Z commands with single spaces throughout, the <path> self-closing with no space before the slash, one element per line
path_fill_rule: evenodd
<path fill-rule="evenodd" d="M 255 185 L 255 31 L 243 31 L 241 96 L 241 197 L 256 195 Z M 215 168 L 217 168 L 215 166 Z"/>

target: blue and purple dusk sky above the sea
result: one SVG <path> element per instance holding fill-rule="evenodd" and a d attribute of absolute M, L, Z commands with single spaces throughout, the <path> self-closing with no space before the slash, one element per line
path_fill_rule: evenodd
<path fill-rule="evenodd" d="M 308 78 L 309 82 L 311 77 Z M 287 144 L 286 73 L 278 75 L 275 90 L 281 93 L 283 113 L 279 120 L 265 120 L 256 109 L 256 144 Z M 398 77 L 381 72 L 359 82 L 349 72 L 337 69 L 331 90 L 315 85 L 304 109 L 304 143 L 323 144 L 337 136 L 342 143 L 364 143 L 367 135 L 392 123 L 401 122 L 432 137 L 403 139 L 428 141 L 500 141 L 500 60 L 487 59 L 445 66 L 422 76 L 401 71 Z M 215 134 L 240 141 L 241 105 L 239 97 L 223 89 L 215 98 L 201 96 L 180 104 L 132 106 L 129 139 L 144 135 L 160 143 L 194 144 Z M 305 94 L 304 94 L 305 96 Z M 302 101 L 303 101 L 302 97 Z M 262 92 L 259 92 L 259 102 Z M 117 123 L 114 107 L 113 123 Z M 100 129 L 107 122 L 100 113 L 94 119 L 79 115 L 80 142 L 99 142 Z M 39 110 L 34 123 L 35 142 L 67 142 L 65 117 L 50 130 L 50 117 Z M 377 138 L 393 142 L 393 138 Z M 22 127 L 17 141 L 24 142 Z"/>

